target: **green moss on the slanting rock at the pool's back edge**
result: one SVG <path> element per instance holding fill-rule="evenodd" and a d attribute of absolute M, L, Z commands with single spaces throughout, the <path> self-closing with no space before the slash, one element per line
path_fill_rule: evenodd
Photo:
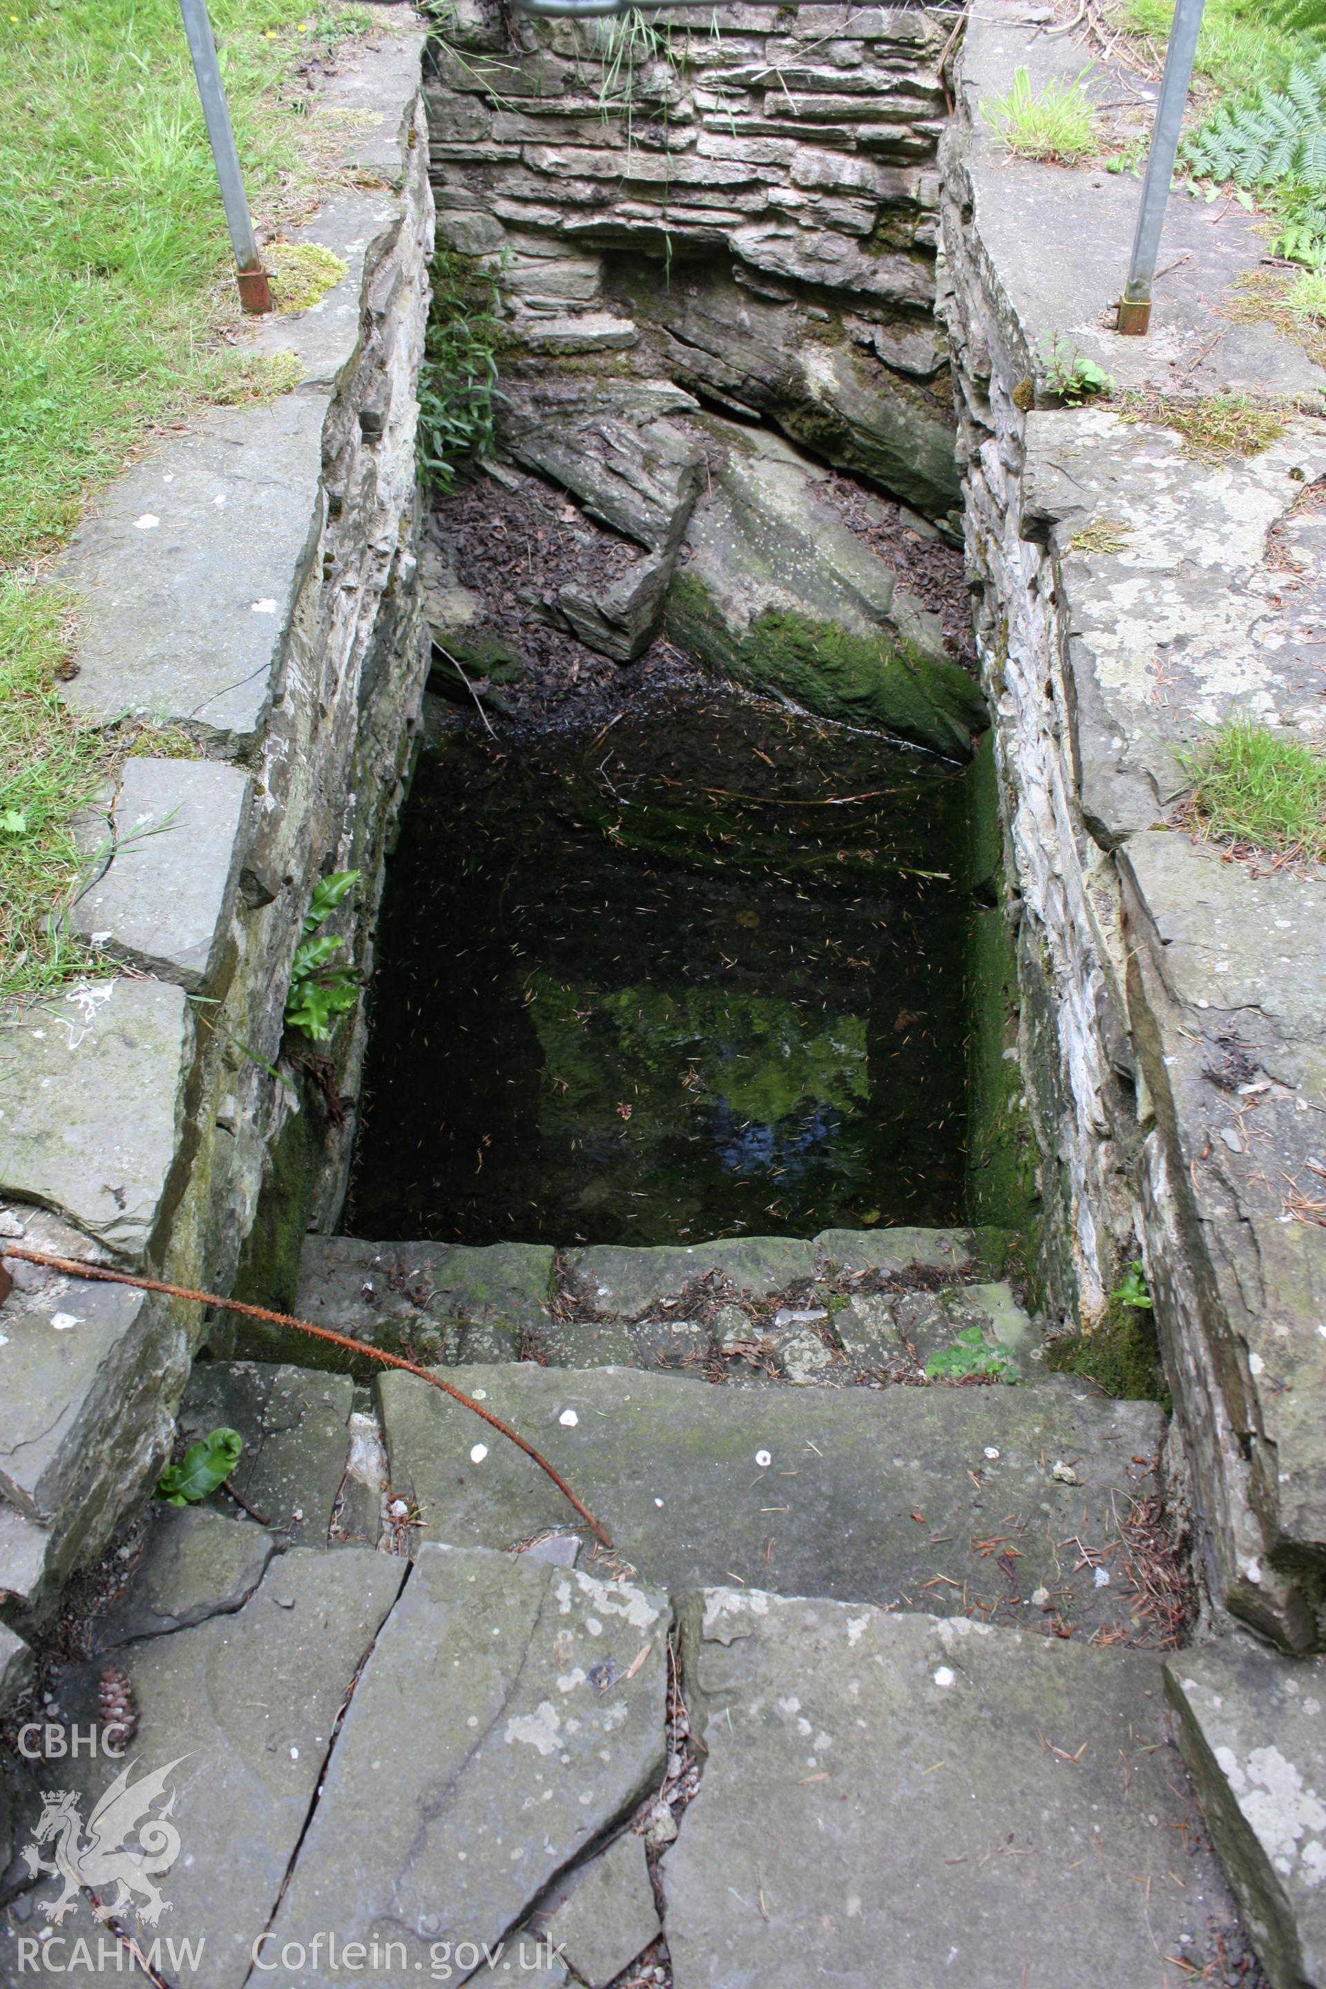
<path fill-rule="evenodd" d="M 672 640 L 751 690 L 781 690 L 821 718 L 875 724 L 936 752 L 966 756 L 984 724 L 978 686 L 952 662 L 911 654 L 879 634 L 789 609 L 765 609 L 744 636 L 704 581 L 682 573 L 668 591 Z"/>

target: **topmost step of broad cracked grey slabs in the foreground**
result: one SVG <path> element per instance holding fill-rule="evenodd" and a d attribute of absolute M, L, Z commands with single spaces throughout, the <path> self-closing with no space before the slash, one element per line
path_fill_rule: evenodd
<path fill-rule="evenodd" d="M 604 1989 L 632 1963 L 674 1989 L 1161 1989 L 1239 1961 L 1151 1653 L 437 1543 L 404 1575 L 296 1547 L 233 1609 L 227 1561 L 229 1613 L 117 1649 L 129 1776 L 179 1832 L 125 1862 L 169 1905 L 133 1927 L 157 1979 L 241 1989 L 254 1943 L 306 1989 Z M 54 1715 L 87 1720 L 95 1683 L 72 1665 Z M 85 1824 L 117 1770 L 48 1760 L 44 1802 Z M 0 1979 L 42 1947 L 78 1983 L 129 1973 L 80 1973 L 74 1937 L 105 1929 L 56 1925 L 58 1898 L 10 1905 Z"/>

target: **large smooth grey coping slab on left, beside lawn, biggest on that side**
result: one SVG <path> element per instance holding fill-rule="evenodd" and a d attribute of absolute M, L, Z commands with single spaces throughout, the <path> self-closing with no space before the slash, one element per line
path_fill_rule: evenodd
<path fill-rule="evenodd" d="M 111 485 L 60 563 L 83 605 L 76 712 L 256 738 L 318 537 L 326 410 L 308 386 L 205 416 Z"/>

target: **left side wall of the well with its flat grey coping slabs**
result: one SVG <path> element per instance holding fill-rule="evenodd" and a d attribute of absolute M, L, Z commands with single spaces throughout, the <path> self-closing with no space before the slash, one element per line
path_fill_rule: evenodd
<path fill-rule="evenodd" d="M 83 981 L 0 1018 L 4 1235 L 229 1291 L 272 1156 L 314 1122 L 288 1219 L 332 1211 L 362 1052 L 282 1054 L 320 875 L 360 869 L 326 931 L 370 967 L 425 670 L 415 384 L 433 203 L 421 32 L 382 12 L 312 117 L 328 187 L 296 241 L 346 274 L 254 346 L 298 386 L 153 446 L 80 527 L 70 702 L 161 728 L 87 821 Z M 286 362 L 288 364 L 288 362 Z M 177 758 L 187 740 L 191 758 Z M 161 740 L 161 748 L 153 748 Z M 111 967 L 115 971 L 111 971 Z M 286 1042 L 290 1052 L 290 1040 Z M 298 1064 L 304 1068 L 296 1068 Z M 169 1452 L 197 1305 L 10 1263 L 0 1335 L 0 1607 L 22 1623 L 87 1563 Z"/>

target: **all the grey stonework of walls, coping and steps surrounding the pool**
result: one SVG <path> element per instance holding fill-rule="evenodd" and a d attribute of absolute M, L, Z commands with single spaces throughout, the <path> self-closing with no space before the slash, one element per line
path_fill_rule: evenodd
<path fill-rule="evenodd" d="M 223 1289 L 243 1259 L 515 1422 L 614 1539 L 417 1376 L 227 1358 L 217 1323 L 189 1372 L 193 1313 L 12 1263 L 0 1709 L 38 1645 L 26 1705 L 85 1720 L 111 1659 L 143 1758 L 205 1760 L 169 1898 L 207 1955 L 171 1989 L 340 1981 L 338 1943 L 390 1989 L 1326 1985 L 1322 883 L 1171 814 L 1199 728 L 1320 728 L 1326 374 L 1219 314 L 1264 249 L 1241 209 L 1175 207 L 1151 338 L 1115 338 L 1135 183 L 980 119 L 1022 64 L 1081 72 L 1050 20 L 449 0 L 384 32 L 304 229 L 348 274 L 262 332 L 302 386 L 143 457 L 70 553 L 72 702 L 199 758 L 125 762 L 74 913 L 107 973 L 4 1018 L 0 1235 Z M 535 477 L 632 549 L 521 609 L 998 786 L 972 861 L 1016 957 L 1030 1295 L 1095 1327 L 1141 1257 L 1169 1426 L 1050 1370 L 994 1227 L 334 1233 L 352 1114 L 314 1138 L 272 1080 L 278 991 L 318 871 L 364 871 L 372 959 L 423 625 L 481 625 L 445 527 L 415 573 L 429 167 L 507 332 L 495 503 Z M 1064 406 L 1054 338 L 1139 398 Z M 1280 438 L 1185 452 L 1165 396 L 1231 388 L 1284 398 Z M 962 537 L 980 686 L 825 465 Z M 324 1072 L 350 1106 L 362 1040 Z M 217 1424 L 233 1496 L 145 1518 Z M 99 1776 L 0 1756 L 6 1983 L 105 1931 L 14 1862 Z"/>

